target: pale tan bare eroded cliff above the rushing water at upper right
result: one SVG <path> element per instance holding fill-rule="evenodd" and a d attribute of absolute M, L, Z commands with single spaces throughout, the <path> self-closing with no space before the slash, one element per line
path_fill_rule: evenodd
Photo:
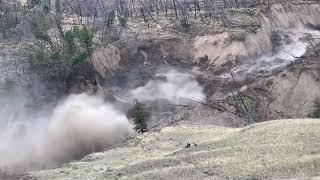
<path fill-rule="evenodd" d="M 241 63 L 270 54 L 275 50 L 277 31 L 317 29 L 320 5 L 315 1 L 276 2 L 268 9 L 242 9 L 232 12 L 230 27 L 221 34 L 198 36 L 194 42 L 195 61 L 208 57 L 211 65 L 228 61 Z"/>

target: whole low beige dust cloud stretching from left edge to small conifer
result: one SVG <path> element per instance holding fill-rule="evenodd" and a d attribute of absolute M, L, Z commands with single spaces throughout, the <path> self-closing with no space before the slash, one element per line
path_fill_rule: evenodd
<path fill-rule="evenodd" d="M 23 128 L 19 136 L 6 133 L 19 128 L 0 132 L 0 172 L 55 167 L 120 143 L 133 131 L 124 113 L 85 94 L 70 95 L 49 117 Z"/>

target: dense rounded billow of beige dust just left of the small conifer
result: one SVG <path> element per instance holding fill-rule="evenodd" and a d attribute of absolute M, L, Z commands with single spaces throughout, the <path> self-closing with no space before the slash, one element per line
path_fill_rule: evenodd
<path fill-rule="evenodd" d="M 121 142 L 131 130 L 126 116 L 100 98 L 71 95 L 55 109 L 39 150 L 50 160 L 69 161 Z"/>

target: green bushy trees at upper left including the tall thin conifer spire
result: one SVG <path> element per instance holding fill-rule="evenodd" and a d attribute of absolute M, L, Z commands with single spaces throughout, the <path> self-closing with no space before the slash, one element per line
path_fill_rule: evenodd
<path fill-rule="evenodd" d="M 68 30 L 62 26 L 61 2 L 56 0 L 55 23 L 50 28 L 50 10 L 43 5 L 35 21 L 36 43 L 30 47 L 29 60 L 32 68 L 40 75 L 64 81 L 73 68 L 84 63 L 93 51 L 93 34 L 85 26 L 74 25 Z M 52 26 L 52 25 L 51 25 Z"/>

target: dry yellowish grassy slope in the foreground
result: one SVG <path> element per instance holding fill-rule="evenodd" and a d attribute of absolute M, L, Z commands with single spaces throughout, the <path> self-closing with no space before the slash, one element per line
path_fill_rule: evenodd
<path fill-rule="evenodd" d="M 318 119 L 271 121 L 239 129 L 179 124 L 25 178 L 316 177 L 320 176 L 319 138 Z M 187 143 L 191 148 L 185 148 Z"/>

